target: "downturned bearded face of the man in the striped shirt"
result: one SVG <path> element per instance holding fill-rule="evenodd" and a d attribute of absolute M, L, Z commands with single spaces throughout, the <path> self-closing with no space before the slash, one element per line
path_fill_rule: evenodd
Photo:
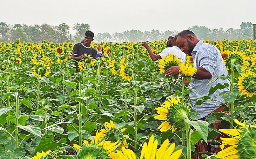
<path fill-rule="evenodd" d="M 191 43 L 190 39 L 182 38 L 182 37 L 178 36 L 178 38 L 176 40 L 176 45 L 178 46 L 178 48 L 181 49 L 182 52 L 191 56 L 194 46 Z"/>

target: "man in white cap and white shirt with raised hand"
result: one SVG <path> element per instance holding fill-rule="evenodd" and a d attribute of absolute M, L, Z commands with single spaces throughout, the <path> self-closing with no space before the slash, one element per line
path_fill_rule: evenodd
<path fill-rule="evenodd" d="M 170 53 L 173 54 L 173 55 L 176 55 L 178 56 L 178 58 L 181 59 L 181 62 L 186 62 L 186 54 L 184 52 L 182 52 L 180 50 L 180 48 L 178 48 L 176 46 L 176 43 L 175 43 L 175 40 L 174 38 L 177 36 L 176 33 L 172 33 L 169 37 L 168 37 L 168 41 L 167 41 L 167 46 L 166 48 L 161 52 L 159 53 L 158 55 L 154 54 L 151 50 L 151 48 L 149 47 L 148 43 L 146 43 L 145 41 L 143 42 L 142 46 L 144 46 L 147 50 L 148 50 L 148 53 L 149 53 L 149 56 L 150 58 L 153 60 L 153 61 L 156 61 L 158 59 L 161 59 L 162 57 L 164 56 L 167 56 L 169 55 Z"/>

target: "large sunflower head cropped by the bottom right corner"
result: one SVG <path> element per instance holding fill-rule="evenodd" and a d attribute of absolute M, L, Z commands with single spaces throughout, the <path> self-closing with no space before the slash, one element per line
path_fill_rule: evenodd
<path fill-rule="evenodd" d="M 231 135 L 230 138 L 221 138 L 222 145 L 230 145 L 218 152 L 216 158 L 256 158 L 256 125 L 245 125 L 235 119 L 235 123 L 241 126 L 239 129 L 220 129 L 221 132 Z"/>

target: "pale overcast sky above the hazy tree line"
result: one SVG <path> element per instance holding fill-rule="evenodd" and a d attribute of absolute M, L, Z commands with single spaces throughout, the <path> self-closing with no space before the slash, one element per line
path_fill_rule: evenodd
<path fill-rule="evenodd" d="M 193 25 L 239 29 L 256 24 L 256 0 L 1 0 L 0 22 L 70 26 L 86 23 L 95 33 L 126 30 L 182 31 Z"/>

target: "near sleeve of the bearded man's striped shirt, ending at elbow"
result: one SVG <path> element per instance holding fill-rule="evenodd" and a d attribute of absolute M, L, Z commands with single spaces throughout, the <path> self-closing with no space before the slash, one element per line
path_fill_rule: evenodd
<path fill-rule="evenodd" d="M 216 52 L 211 47 L 202 47 L 198 50 L 198 65 L 213 75 L 216 68 Z"/>

